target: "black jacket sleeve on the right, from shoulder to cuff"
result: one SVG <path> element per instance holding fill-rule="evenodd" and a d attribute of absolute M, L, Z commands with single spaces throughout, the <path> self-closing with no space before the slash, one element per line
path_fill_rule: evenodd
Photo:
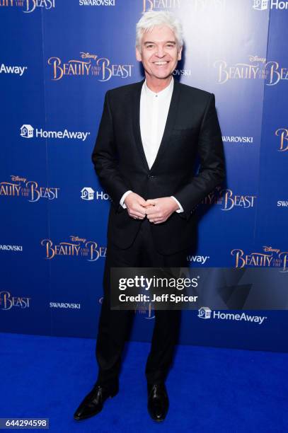
<path fill-rule="evenodd" d="M 211 93 L 205 108 L 197 152 L 200 158 L 197 175 L 174 194 L 184 209 L 179 216 L 185 219 L 190 217 L 197 204 L 221 184 L 225 177 L 224 149 L 214 93 Z"/>

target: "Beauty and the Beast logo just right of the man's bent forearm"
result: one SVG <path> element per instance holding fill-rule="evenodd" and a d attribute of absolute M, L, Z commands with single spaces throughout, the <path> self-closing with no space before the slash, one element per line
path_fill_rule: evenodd
<path fill-rule="evenodd" d="M 216 187 L 214 191 L 210 192 L 202 204 L 219 204 L 221 205 L 221 210 L 231 210 L 234 207 L 243 207 L 247 209 L 248 207 L 254 207 L 256 195 L 242 195 L 234 194 L 232 190 L 226 188 L 221 189 L 221 187 Z"/>

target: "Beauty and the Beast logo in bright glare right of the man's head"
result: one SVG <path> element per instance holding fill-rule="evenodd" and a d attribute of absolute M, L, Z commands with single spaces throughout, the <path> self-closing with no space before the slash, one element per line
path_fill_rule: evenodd
<path fill-rule="evenodd" d="M 226 60 L 216 60 L 217 82 L 224 84 L 231 79 L 265 79 L 267 86 L 275 86 L 281 80 L 288 80 L 288 69 L 278 62 L 266 62 L 265 57 L 249 56 L 248 62 L 229 65 Z"/>

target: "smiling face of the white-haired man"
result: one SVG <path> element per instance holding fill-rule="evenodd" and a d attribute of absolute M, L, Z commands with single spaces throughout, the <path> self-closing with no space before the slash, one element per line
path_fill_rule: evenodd
<path fill-rule="evenodd" d="M 136 58 L 143 64 L 146 80 L 155 82 L 171 76 L 181 52 L 171 28 L 161 25 L 143 33 L 141 52 L 136 48 Z"/>

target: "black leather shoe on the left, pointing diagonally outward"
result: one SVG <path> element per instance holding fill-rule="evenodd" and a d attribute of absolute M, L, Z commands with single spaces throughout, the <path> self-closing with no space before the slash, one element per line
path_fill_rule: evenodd
<path fill-rule="evenodd" d="M 107 400 L 108 397 L 116 396 L 118 391 L 118 384 L 104 387 L 96 383 L 74 413 L 74 420 L 86 420 L 86 418 L 97 415 L 103 409 L 105 400 Z"/>

